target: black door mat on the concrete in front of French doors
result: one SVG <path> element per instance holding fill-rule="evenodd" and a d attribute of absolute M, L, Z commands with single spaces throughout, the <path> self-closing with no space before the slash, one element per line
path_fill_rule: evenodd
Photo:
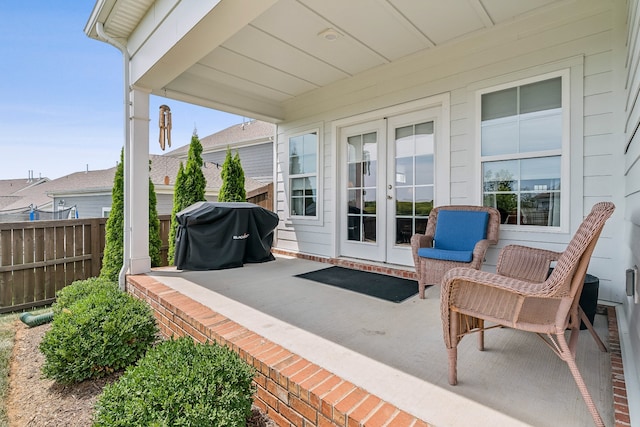
<path fill-rule="evenodd" d="M 329 267 L 296 277 L 337 286 L 391 302 L 402 302 L 418 293 L 418 282 L 401 277 L 344 267 Z"/>

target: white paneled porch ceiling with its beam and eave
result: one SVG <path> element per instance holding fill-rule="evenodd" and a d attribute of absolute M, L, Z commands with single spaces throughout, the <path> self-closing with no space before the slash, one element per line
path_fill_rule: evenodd
<path fill-rule="evenodd" d="M 97 38 L 103 22 L 128 40 L 132 58 L 145 56 L 134 84 L 156 95 L 278 121 L 283 105 L 305 93 L 573 1 L 221 0 L 199 5 L 202 19 L 176 29 L 158 15 L 171 10 L 173 24 L 187 26 L 179 19 L 188 2 L 99 0 L 85 31 Z M 149 36 L 136 46 L 145 26 Z M 167 30 L 184 32 L 171 40 Z"/>

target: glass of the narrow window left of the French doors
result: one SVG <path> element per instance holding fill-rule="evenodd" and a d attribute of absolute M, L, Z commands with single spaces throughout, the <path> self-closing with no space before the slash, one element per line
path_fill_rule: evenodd
<path fill-rule="evenodd" d="M 318 132 L 289 138 L 291 216 L 317 216 Z"/>

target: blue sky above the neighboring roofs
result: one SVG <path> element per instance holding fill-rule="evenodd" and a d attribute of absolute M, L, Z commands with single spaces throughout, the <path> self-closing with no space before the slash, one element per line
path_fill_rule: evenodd
<path fill-rule="evenodd" d="M 122 53 L 90 39 L 95 0 L 0 2 L 0 180 L 59 178 L 115 166 L 124 146 Z M 243 117 L 151 95 L 149 150 L 159 106 L 171 108 L 171 148 Z M 244 119 L 248 120 L 248 119 Z"/>

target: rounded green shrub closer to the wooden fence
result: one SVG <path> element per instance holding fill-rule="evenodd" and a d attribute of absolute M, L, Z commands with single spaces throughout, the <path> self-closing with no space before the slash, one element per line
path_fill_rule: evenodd
<path fill-rule="evenodd" d="M 75 288 L 75 296 L 87 287 Z M 63 302 L 73 299 L 73 293 L 74 288 L 63 294 Z M 144 355 L 156 333 L 146 303 L 108 285 L 97 286 L 55 313 L 40 343 L 45 355 L 42 372 L 61 383 L 108 375 Z"/>

